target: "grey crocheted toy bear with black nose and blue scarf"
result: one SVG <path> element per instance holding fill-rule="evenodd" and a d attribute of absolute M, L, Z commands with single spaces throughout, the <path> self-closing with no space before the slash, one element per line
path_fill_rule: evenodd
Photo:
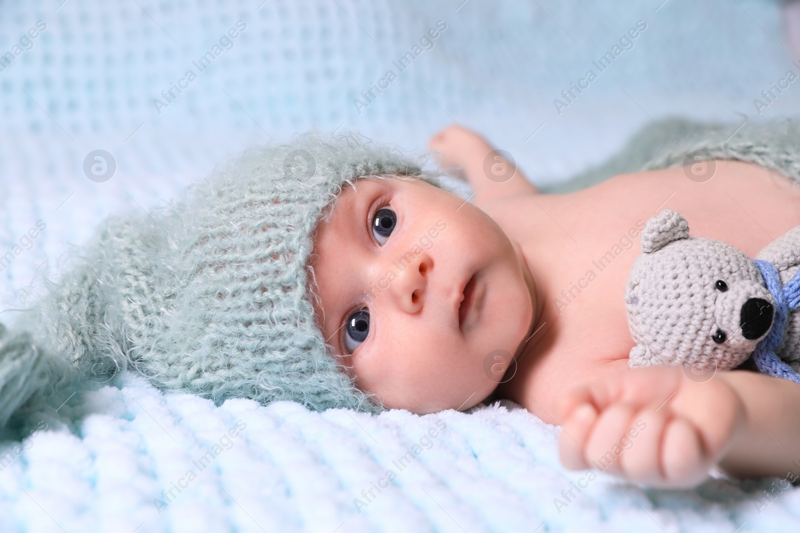
<path fill-rule="evenodd" d="M 690 237 L 664 209 L 642 230 L 626 284 L 630 367 L 758 370 L 800 383 L 800 226 L 755 260 L 722 241 Z"/>

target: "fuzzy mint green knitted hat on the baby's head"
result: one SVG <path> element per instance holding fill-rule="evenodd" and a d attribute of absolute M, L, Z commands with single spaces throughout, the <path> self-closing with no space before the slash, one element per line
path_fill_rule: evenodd
<path fill-rule="evenodd" d="M 249 149 L 181 201 L 106 221 L 31 310 L 34 339 L 78 379 L 130 368 L 217 403 L 375 411 L 379 402 L 354 387 L 315 323 L 307 262 L 342 186 L 379 176 L 468 194 L 466 184 L 356 137 L 329 144 L 306 134 Z M 31 364 L 38 376 L 61 368 Z"/>

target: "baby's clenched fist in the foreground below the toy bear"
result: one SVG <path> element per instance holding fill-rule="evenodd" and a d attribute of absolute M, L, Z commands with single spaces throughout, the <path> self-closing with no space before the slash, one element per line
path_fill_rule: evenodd
<path fill-rule="evenodd" d="M 722 459 L 744 419 L 722 372 L 625 370 L 570 392 L 561 405 L 564 466 L 598 468 L 654 487 L 694 487 Z"/>

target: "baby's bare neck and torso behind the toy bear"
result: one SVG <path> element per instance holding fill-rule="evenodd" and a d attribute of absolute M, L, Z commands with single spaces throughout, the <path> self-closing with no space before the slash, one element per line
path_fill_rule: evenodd
<path fill-rule="evenodd" d="M 719 161 L 717 173 L 704 183 L 676 168 L 513 202 L 505 209 L 495 206 L 490 215 L 520 242 L 538 276 L 544 299 L 539 334 L 546 336 L 520 365 L 518 392 L 550 408 L 554 383 L 570 388 L 626 363 L 634 342 L 625 284 L 650 217 L 674 209 L 692 234 L 726 241 L 751 257 L 800 225 L 800 185 L 735 161 Z"/>

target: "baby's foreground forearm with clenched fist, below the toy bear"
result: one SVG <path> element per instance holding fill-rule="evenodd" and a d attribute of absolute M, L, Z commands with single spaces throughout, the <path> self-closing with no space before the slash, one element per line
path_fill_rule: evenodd
<path fill-rule="evenodd" d="M 755 372 L 705 382 L 680 367 L 615 373 L 562 403 L 562 462 L 657 487 L 730 475 L 786 475 L 800 459 L 800 386 Z"/>

